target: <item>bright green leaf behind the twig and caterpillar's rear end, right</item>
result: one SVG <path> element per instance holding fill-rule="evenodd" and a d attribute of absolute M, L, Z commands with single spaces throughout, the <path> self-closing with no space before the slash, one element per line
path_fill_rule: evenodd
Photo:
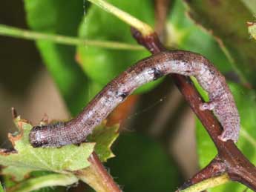
<path fill-rule="evenodd" d="M 234 99 L 236 101 L 238 111 L 241 119 L 240 139 L 237 142 L 238 148 L 245 154 L 245 156 L 251 161 L 256 162 L 256 133 L 255 133 L 255 91 L 249 90 L 240 85 L 229 83 L 229 87 L 232 90 Z M 214 147 L 213 142 L 203 128 L 203 125 L 197 120 L 197 151 L 199 155 L 200 167 L 203 168 L 214 156 L 217 154 L 217 150 Z M 222 185 L 209 191 L 224 192 L 240 192 L 245 190 L 246 187 L 241 184 L 230 182 L 229 184 Z M 250 190 L 248 190 L 249 192 Z"/>

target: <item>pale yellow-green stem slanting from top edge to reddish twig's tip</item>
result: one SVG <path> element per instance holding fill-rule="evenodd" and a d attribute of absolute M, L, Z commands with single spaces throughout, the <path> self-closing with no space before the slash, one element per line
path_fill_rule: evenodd
<path fill-rule="evenodd" d="M 119 10 L 117 7 L 114 7 L 112 4 L 109 4 L 104 0 L 88 0 L 88 1 L 91 1 L 91 3 L 96 4 L 98 7 L 102 8 L 102 10 L 105 10 L 108 13 L 111 13 L 117 18 L 121 19 L 122 21 L 125 21 L 125 23 L 130 24 L 132 27 L 139 30 L 143 36 L 148 36 L 154 33 L 154 30 L 148 24 L 140 21 L 134 16 L 131 16 L 130 14 L 124 12 L 123 10 Z"/>

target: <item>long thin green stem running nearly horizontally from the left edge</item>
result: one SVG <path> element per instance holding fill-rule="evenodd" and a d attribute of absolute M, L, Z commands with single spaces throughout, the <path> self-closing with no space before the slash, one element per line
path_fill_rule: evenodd
<path fill-rule="evenodd" d="M 0 35 L 2 36 L 11 36 L 22 39 L 29 40 L 47 40 L 51 42 L 56 42 L 59 44 L 68 44 L 68 45 L 88 45 L 96 47 L 105 47 L 108 49 L 117 49 L 117 50 L 143 50 L 142 46 L 125 44 L 119 42 L 108 42 L 108 41 L 96 41 L 88 39 L 79 39 L 69 36 L 60 36 L 60 35 L 50 35 L 46 33 L 33 32 L 30 30 L 22 30 L 16 27 L 10 27 L 4 24 L 0 24 Z"/>

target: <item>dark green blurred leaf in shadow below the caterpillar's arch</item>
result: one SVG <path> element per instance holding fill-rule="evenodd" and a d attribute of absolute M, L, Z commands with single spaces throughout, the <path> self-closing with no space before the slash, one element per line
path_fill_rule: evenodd
<path fill-rule="evenodd" d="M 109 159 L 106 165 L 123 191 L 175 191 L 181 185 L 178 166 L 153 139 L 124 133 L 113 150 L 116 158 Z"/>

